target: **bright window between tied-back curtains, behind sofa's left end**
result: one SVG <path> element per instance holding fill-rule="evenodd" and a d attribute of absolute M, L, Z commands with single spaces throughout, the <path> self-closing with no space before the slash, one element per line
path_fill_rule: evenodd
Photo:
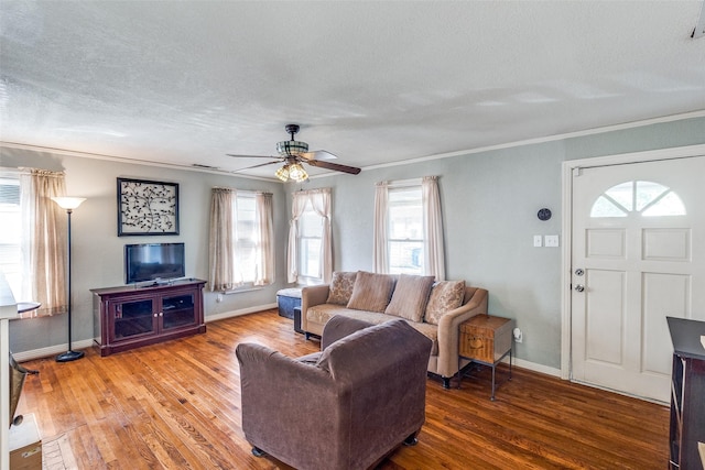
<path fill-rule="evenodd" d="M 299 218 L 299 282 L 321 283 L 321 244 L 323 242 L 323 217 L 306 205 Z"/>

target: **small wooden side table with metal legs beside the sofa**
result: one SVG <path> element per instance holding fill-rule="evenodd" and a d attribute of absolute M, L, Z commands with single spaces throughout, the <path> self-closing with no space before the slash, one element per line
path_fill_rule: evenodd
<path fill-rule="evenodd" d="M 497 364 L 509 354 L 509 378 L 511 380 L 512 329 L 514 320 L 509 318 L 476 315 L 460 324 L 459 356 L 492 368 L 492 394 L 495 401 L 495 371 Z M 458 374 L 458 386 L 463 373 Z"/>

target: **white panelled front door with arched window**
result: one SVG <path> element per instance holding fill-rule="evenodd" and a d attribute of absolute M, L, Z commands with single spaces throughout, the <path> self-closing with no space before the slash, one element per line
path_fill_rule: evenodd
<path fill-rule="evenodd" d="M 573 172 L 572 378 L 668 402 L 665 317 L 705 320 L 705 156 Z"/>

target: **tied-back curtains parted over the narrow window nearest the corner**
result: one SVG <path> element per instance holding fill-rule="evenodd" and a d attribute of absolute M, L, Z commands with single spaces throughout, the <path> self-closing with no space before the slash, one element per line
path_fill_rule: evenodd
<path fill-rule="evenodd" d="M 323 218 L 323 237 L 321 239 L 321 273 L 324 283 L 333 277 L 333 237 L 330 188 L 300 190 L 293 194 L 291 220 L 289 222 L 289 250 L 286 252 L 288 281 L 299 281 L 299 218 L 311 204 L 313 210 Z"/>

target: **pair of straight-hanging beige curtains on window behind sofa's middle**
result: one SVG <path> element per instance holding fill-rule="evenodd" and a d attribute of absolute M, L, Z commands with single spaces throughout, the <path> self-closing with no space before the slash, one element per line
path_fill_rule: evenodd
<path fill-rule="evenodd" d="M 409 182 L 404 182 L 405 185 Z M 388 253 L 388 215 L 389 188 L 393 182 L 377 183 L 375 193 L 375 239 L 372 242 L 372 270 L 376 273 L 389 272 Z M 424 176 L 421 181 L 423 200 L 423 252 L 424 274 L 435 276 L 436 281 L 445 280 L 445 249 L 443 241 L 443 214 L 438 177 Z"/>

